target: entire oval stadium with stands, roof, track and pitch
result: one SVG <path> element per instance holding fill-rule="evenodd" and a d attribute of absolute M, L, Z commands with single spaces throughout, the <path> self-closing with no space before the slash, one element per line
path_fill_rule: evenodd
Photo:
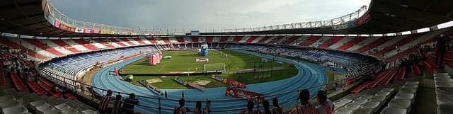
<path fill-rule="evenodd" d="M 453 1 L 219 30 L 93 23 L 53 3 L 0 3 L 1 113 L 453 113 Z"/>

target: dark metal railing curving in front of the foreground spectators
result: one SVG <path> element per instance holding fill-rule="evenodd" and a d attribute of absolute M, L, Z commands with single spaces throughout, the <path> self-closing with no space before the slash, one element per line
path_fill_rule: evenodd
<path fill-rule="evenodd" d="M 59 84 L 59 86 L 64 86 L 67 89 L 70 89 L 71 91 L 74 91 L 75 93 L 79 93 L 84 96 L 88 95 L 88 98 L 91 98 L 91 100 L 100 101 L 101 96 L 103 96 L 101 94 L 106 93 L 106 91 L 108 90 L 108 89 L 99 88 L 97 86 L 91 86 L 91 85 L 85 84 L 82 81 L 69 79 L 65 76 L 47 75 L 47 74 L 43 74 L 42 72 L 40 72 L 40 74 L 41 74 L 41 76 L 45 77 L 46 79 L 49 79 L 50 81 L 53 81 L 56 84 Z M 349 77 L 346 79 L 329 82 L 327 84 L 310 86 L 306 89 L 316 89 L 316 88 L 321 87 L 322 89 L 327 90 L 329 87 L 328 85 L 332 85 L 332 84 L 344 84 L 343 88 L 345 88 L 345 87 L 347 88 L 348 87 L 347 81 L 355 82 L 356 79 L 360 79 L 360 77 L 362 77 L 364 75 L 365 74 L 360 74 L 360 75 L 356 75 L 356 76 Z M 348 80 L 348 79 L 352 79 L 352 80 Z M 353 84 L 351 84 L 351 85 L 353 85 Z M 281 93 L 268 94 L 268 95 L 265 95 L 264 98 L 273 98 L 276 96 L 284 96 L 284 95 L 288 95 L 288 94 L 296 94 L 296 96 L 297 96 L 297 94 L 301 90 L 302 89 L 297 89 L 297 90 L 293 90 L 293 91 L 282 91 Z M 128 96 L 130 94 L 130 93 L 124 93 L 121 91 L 114 91 L 114 93 L 121 94 L 122 96 Z M 179 100 L 179 99 L 175 99 L 175 98 L 165 98 L 164 96 L 137 96 L 137 97 L 149 99 L 151 101 L 156 101 L 157 103 L 159 103 L 157 106 L 137 105 L 137 106 L 143 107 L 143 108 L 151 108 L 154 110 L 159 110 L 159 113 L 162 113 L 161 111 L 164 111 L 164 110 L 173 110 L 173 107 L 162 107 L 162 105 L 161 105 L 162 102 L 164 102 L 164 101 L 178 102 L 178 100 Z M 258 97 L 252 97 L 252 98 L 258 98 Z M 211 104 L 213 102 L 247 101 L 249 99 L 251 99 L 251 98 L 224 98 L 224 99 L 207 99 L 206 98 L 206 100 L 193 100 L 190 98 L 186 98 L 185 102 L 195 103 L 197 101 L 200 101 L 202 103 Z M 297 97 L 288 98 L 285 101 L 280 101 L 280 105 L 287 104 L 290 106 L 295 106 L 295 105 L 297 105 L 297 103 L 299 103 Z M 174 106 L 177 106 L 177 104 L 175 103 Z M 259 104 L 258 104 L 258 107 L 259 107 Z M 242 110 L 246 110 L 246 108 L 211 109 L 211 112 L 219 113 L 219 112 L 236 111 L 236 110 L 239 112 Z"/>

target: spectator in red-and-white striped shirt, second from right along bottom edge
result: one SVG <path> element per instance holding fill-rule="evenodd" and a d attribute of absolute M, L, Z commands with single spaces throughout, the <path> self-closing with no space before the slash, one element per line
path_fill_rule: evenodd
<path fill-rule="evenodd" d="M 309 90 L 302 90 L 299 93 L 300 104 L 294 107 L 289 114 L 318 114 L 313 103 L 310 103 Z"/>

